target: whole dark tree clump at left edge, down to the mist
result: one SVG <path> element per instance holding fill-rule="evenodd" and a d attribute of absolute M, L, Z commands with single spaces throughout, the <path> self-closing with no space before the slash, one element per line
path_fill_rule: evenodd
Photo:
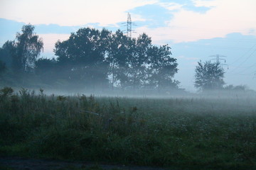
<path fill-rule="evenodd" d="M 8 40 L 0 48 L 0 61 L 6 67 L 6 72 L 1 74 L 0 86 L 31 87 L 39 84 L 34 69 L 43 50 L 43 40 L 33 30 L 34 26 L 30 24 L 23 26 L 21 33 L 16 34 L 16 40 Z"/>

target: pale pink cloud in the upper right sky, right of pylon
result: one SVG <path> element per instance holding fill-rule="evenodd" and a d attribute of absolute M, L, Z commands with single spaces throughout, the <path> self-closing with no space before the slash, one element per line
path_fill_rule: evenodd
<path fill-rule="evenodd" d="M 198 13 L 176 6 L 168 25 L 159 28 L 142 26 L 136 29 L 137 33 L 148 33 L 155 43 L 160 44 L 224 38 L 228 33 L 256 35 L 255 0 L 195 0 L 194 3 L 210 8 L 205 13 Z M 173 2 L 169 6 L 165 4 L 166 8 L 173 5 Z"/>

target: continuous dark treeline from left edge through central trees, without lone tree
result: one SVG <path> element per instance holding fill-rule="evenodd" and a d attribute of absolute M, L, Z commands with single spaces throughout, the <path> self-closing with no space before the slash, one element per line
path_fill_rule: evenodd
<path fill-rule="evenodd" d="M 129 38 L 121 30 L 80 28 L 55 43 L 52 59 L 39 57 L 43 40 L 34 26 L 23 26 L 16 40 L 0 48 L 4 86 L 85 89 L 178 89 L 178 63 L 169 45 L 156 46 L 145 33 Z"/>

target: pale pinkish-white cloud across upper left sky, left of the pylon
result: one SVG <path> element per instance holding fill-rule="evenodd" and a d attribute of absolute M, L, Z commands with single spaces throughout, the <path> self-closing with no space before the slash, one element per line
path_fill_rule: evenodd
<path fill-rule="evenodd" d="M 156 0 L 1 0 L 0 18 L 31 24 L 82 26 L 100 23 L 101 26 L 125 21 L 126 11 Z"/>

